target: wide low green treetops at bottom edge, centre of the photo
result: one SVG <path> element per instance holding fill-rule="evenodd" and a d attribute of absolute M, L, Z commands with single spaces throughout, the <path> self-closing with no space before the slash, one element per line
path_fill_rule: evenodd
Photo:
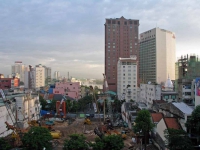
<path fill-rule="evenodd" d="M 124 142 L 119 135 L 109 135 L 102 139 L 96 138 L 92 147 L 93 150 L 121 150 L 124 147 Z"/>

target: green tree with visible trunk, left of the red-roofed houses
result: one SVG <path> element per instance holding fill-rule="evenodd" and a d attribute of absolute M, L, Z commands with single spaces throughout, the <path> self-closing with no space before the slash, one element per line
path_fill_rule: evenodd
<path fill-rule="evenodd" d="M 135 133 L 142 133 L 145 141 L 145 150 L 147 145 L 147 135 L 150 130 L 152 130 L 154 124 L 151 122 L 151 116 L 148 110 L 141 110 L 138 112 L 137 117 L 135 118 L 135 125 L 133 130 Z"/>

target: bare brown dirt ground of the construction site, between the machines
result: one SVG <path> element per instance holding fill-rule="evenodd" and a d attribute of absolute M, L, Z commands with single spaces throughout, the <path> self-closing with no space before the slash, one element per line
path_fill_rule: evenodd
<path fill-rule="evenodd" d="M 69 138 L 70 134 L 77 133 L 77 134 L 83 134 L 86 137 L 87 141 L 94 141 L 97 135 L 94 134 L 94 128 L 100 125 L 99 121 L 93 121 L 91 125 L 84 125 L 83 124 L 84 119 L 76 119 L 71 124 L 68 124 L 68 122 L 63 123 L 57 123 L 55 122 L 55 125 L 53 126 L 53 129 L 59 130 L 61 132 L 61 138 L 58 139 L 59 145 L 54 148 L 54 150 L 62 150 L 63 143 L 66 138 Z M 121 131 L 121 128 L 117 128 L 119 132 Z M 86 133 L 87 134 L 86 134 Z M 129 147 L 132 147 L 132 150 L 139 150 L 141 145 L 140 144 L 134 144 L 132 142 L 132 132 L 129 132 L 127 134 L 127 138 L 124 140 L 125 147 L 123 150 L 128 150 Z M 150 148 L 151 147 L 151 148 Z M 129 149 L 130 150 L 130 149 Z M 154 146 L 149 146 L 149 150 L 157 150 Z"/>

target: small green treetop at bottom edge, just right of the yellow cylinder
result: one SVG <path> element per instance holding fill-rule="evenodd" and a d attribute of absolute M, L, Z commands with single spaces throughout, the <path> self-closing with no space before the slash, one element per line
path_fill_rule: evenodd
<path fill-rule="evenodd" d="M 85 142 L 86 137 L 80 134 L 72 134 L 70 139 L 65 139 L 63 150 L 87 150 L 88 144 Z"/>

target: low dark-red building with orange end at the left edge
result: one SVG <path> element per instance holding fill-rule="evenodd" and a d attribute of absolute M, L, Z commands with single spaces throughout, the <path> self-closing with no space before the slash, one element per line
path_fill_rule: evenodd
<path fill-rule="evenodd" d="M 10 89 L 19 86 L 18 78 L 0 78 L 0 89 Z"/>

